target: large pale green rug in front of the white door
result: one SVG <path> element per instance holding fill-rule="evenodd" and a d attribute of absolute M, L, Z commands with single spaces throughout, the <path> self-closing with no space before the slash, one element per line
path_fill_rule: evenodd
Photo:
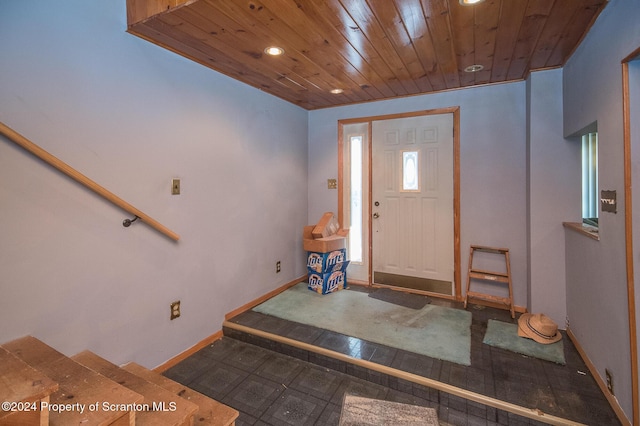
<path fill-rule="evenodd" d="M 255 312 L 313 325 L 432 358 L 471 364 L 471 313 L 442 306 L 411 309 L 367 293 L 321 295 L 297 284 L 253 308 Z"/>

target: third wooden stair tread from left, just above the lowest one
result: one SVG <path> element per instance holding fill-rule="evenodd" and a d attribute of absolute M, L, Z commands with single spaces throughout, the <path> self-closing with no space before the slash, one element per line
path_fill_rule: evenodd
<path fill-rule="evenodd" d="M 198 406 L 178 398 L 155 383 L 124 370 L 91 351 L 83 351 L 71 357 L 74 361 L 125 386 L 144 397 L 141 410 L 136 413 L 139 424 L 162 424 L 166 426 L 191 425 Z"/>

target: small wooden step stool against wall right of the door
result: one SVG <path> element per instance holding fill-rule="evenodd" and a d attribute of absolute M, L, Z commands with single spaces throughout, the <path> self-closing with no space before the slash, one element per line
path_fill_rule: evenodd
<path fill-rule="evenodd" d="M 504 256 L 506 263 L 506 272 L 493 272 L 485 271 L 482 269 L 475 269 L 473 267 L 473 254 L 476 252 L 493 253 Z M 471 280 L 484 280 L 492 281 L 499 284 L 506 284 L 509 288 L 508 297 L 494 296 L 491 294 L 485 294 L 480 292 L 471 291 Z M 469 273 L 467 275 L 467 294 L 464 298 L 464 307 L 467 308 L 467 302 L 469 299 L 484 300 L 487 302 L 494 302 L 509 307 L 511 311 L 511 318 L 515 318 L 515 309 L 513 307 L 513 287 L 511 285 L 511 263 L 509 262 L 509 249 L 495 248 L 486 246 L 472 245 L 469 249 Z"/>

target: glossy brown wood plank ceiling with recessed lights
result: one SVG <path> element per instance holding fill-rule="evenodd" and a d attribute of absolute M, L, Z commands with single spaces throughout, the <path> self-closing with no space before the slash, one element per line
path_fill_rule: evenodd
<path fill-rule="evenodd" d="M 606 4 L 127 0 L 127 18 L 132 34 L 313 110 L 517 81 L 560 67 Z M 268 46 L 284 54 L 269 56 Z M 465 72 L 473 65 L 483 69 Z"/>

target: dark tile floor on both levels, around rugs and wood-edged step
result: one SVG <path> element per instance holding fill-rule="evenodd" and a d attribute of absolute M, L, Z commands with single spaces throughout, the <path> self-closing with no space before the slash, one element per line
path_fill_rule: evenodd
<path fill-rule="evenodd" d="M 474 305 L 469 311 L 473 320 L 468 367 L 253 311 L 232 321 L 576 422 L 620 424 L 566 335 L 567 365 L 524 357 L 482 343 L 487 321 L 511 321 L 507 311 Z M 224 332 L 224 338 L 165 374 L 240 411 L 238 425 L 336 425 L 345 392 L 432 407 L 445 425 L 541 424 L 249 333 L 229 328 Z"/>

